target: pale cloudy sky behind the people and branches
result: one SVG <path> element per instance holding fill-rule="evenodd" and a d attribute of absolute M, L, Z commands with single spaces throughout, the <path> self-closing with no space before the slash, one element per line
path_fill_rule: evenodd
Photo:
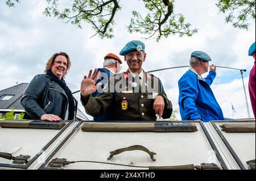
<path fill-rule="evenodd" d="M 183 14 L 185 21 L 191 23 L 193 28 L 198 28 L 199 32 L 192 37 L 170 36 L 156 43 L 155 40 L 144 40 L 143 35 L 127 32 L 132 10 L 147 13 L 143 3 L 138 0 L 121 1 L 122 10 L 117 13 L 114 38 L 111 40 L 102 40 L 97 36 L 90 38 L 94 32 L 86 23 L 82 23 L 82 29 L 79 29 L 56 18 L 44 16 L 45 0 L 21 0 L 15 8 L 7 7 L 5 0 L 1 0 L 0 90 L 14 86 L 16 82 L 30 82 L 36 74 L 43 73 L 49 57 L 60 51 L 67 52 L 72 61 L 66 82 L 72 91 L 79 90 L 82 77 L 89 69 L 101 67 L 105 54 L 119 54 L 128 41 L 141 40 L 146 44 L 147 60 L 143 64 L 145 71 L 188 65 L 189 56 L 194 50 L 207 52 L 212 57 L 212 64 L 246 69 L 243 76 L 250 116 L 253 117 L 247 84 L 254 61 L 247 56 L 247 50 L 255 41 L 255 22 L 251 22 L 249 31 L 226 24 L 225 16 L 218 14 L 215 2 L 176 1 L 175 13 Z M 123 64 L 122 71 L 126 69 L 127 65 Z M 162 79 L 174 108 L 179 107 L 177 81 L 185 71 L 187 68 L 154 73 Z M 234 118 L 248 117 L 240 71 L 217 69 L 217 77 L 211 87 L 224 117 L 233 117 L 231 104 L 236 110 Z M 75 97 L 80 99 L 79 94 Z M 79 107 L 84 112 L 81 103 Z"/>

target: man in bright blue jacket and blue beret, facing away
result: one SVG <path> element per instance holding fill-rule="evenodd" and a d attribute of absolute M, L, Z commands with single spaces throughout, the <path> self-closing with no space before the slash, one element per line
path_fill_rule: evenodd
<path fill-rule="evenodd" d="M 224 120 L 220 106 L 210 85 L 216 77 L 216 66 L 210 65 L 210 56 L 201 51 L 191 54 L 189 70 L 179 80 L 179 107 L 182 120 Z M 207 73 L 206 78 L 201 77 Z"/>

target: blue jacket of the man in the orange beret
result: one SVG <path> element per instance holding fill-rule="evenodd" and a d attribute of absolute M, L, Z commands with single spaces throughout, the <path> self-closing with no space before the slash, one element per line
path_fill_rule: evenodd
<path fill-rule="evenodd" d="M 110 75 L 113 75 L 113 73 L 110 72 L 110 70 L 108 70 L 106 68 L 103 68 L 103 69 L 99 68 L 98 71 L 101 72 L 101 75 L 100 75 L 100 78 L 98 79 L 98 81 L 96 82 L 96 85 L 97 85 L 97 83 L 101 82 L 102 83 L 101 89 L 104 89 L 104 87 L 108 83 Z M 105 73 L 105 75 L 108 75 L 108 77 L 106 78 L 106 76 L 103 76 L 102 73 Z M 100 94 L 100 92 L 96 91 L 96 92 L 93 92 L 92 96 L 96 97 L 98 94 Z M 114 119 L 114 112 L 111 108 L 106 110 L 106 112 L 103 115 L 101 115 L 99 117 L 93 117 L 94 121 L 111 121 L 113 119 Z"/>

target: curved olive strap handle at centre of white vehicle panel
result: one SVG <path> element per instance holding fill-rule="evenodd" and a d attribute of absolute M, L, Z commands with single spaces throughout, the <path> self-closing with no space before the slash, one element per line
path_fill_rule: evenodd
<path fill-rule="evenodd" d="M 114 151 L 110 151 L 110 156 L 108 159 L 111 159 L 114 155 L 117 155 L 119 153 L 123 153 L 124 151 L 132 151 L 132 150 L 142 150 L 145 151 L 146 153 L 148 153 L 150 155 L 150 158 L 152 159 L 152 161 L 156 161 L 156 159 L 154 158 L 154 154 L 156 154 L 154 151 L 150 151 L 148 150 L 146 147 L 141 146 L 141 145 L 133 145 L 133 146 L 129 146 L 127 148 L 121 148 L 121 149 L 117 149 Z"/>

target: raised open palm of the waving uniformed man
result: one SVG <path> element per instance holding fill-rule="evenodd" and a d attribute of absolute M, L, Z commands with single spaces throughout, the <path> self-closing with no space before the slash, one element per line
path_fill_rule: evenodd
<path fill-rule="evenodd" d="M 93 74 L 92 74 L 92 70 L 90 70 L 88 77 L 86 75 L 84 76 L 84 79 L 82 79 L 81 87 L 80 87 L 82 96 L 86 97 L 92 94 L 93 92 L 95 92 L 98 89 L 98 87 L 100 87 L 101 83 L 98 83 L 97 85 L 95 85 L 98 78 L 100 77 L 100 74 L 101 74 L 100 71 L 98 71 L 97 69 L 94 69 Z"/>

